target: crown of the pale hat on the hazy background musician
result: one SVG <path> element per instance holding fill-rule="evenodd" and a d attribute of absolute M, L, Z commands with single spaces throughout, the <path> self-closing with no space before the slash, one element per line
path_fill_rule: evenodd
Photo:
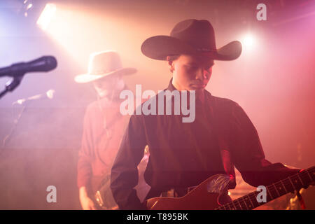
<path fill-rule="evenodd" d="M 116 51 L 97 52 L 90 56 L 88 73 L 93 75 L 102 75 L 111 71 L 122 69 L 120 56 Z"/>

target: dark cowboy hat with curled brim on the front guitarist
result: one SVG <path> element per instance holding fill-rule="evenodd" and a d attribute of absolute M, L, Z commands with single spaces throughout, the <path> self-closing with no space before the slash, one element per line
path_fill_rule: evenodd
<path fill-rule="evenodd" d="M 170 55 L 204 52 L 212 59 L 229 61 L 241 55 L 241 43 L 232 41 L 216 48 L 214 28 L 208 20 L 184 20 L 172 29 L 170 36 L 152 36 L 141 45 L 147 57 L 165 60 Z"/>

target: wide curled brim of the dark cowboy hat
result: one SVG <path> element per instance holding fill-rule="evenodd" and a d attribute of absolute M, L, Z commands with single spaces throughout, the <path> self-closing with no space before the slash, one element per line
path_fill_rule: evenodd
<path fill-rule="evenodd" d="M 166 57 L 170 55 L 190 55 L 200 51 L 172 36 L 152 36 L 142 43 L 141 52 L 152 59 L 166 60 Z M 234 60 L 241 55 L 241 43 L 232 41 L 222 48 L 218 48 L 216 52 L 203 53 L 216 60 Z"/>

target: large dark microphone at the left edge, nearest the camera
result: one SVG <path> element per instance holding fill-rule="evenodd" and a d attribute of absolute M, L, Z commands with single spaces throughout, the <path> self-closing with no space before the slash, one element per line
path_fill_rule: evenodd
<path fill-rule="evenodd" d="M 1 76 L 21 76 L 31 71 L 50 71 L 57 67 L 57 60 L 52 56 L 43 56 L 31 62 L 20 62 L 0 69 Z"/>

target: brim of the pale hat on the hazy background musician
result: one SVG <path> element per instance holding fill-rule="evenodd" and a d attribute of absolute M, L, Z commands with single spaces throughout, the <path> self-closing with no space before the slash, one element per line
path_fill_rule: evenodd
<path fill-rule="evenodd" d="M 122 74 L 123 76 L 127 76 L 136 72 L 137 72 L 137 69 L 134 69 L 134 68 L 122 68 L 122 69 L 117 69 L 115 71 L 111 71 L 109 73 L 98 74 L 98 75 L 93 75 L 89 73 L 80 74 L 74 77 L 74 80 L 76 81 L 76 83 L 90 83 L 92 81 L 99 80 L 107 76 L 113 76 L 117 74 Z"/>

